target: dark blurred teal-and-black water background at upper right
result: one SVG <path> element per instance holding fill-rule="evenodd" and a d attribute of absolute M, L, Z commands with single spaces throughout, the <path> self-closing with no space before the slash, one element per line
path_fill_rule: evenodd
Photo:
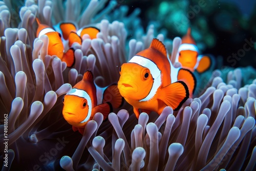
<path fill-rule="evenodd" d="M 145 30 L 149 23 L 154 23 L 158 31 L 165 30 L 167 37 L 173 39 L 176 36 L 182 37 L 190 26 L 192 35 L 197 44 L 200 45 L 203 54 L 212 54 L 215 57 L 220 56 L 223 59 L 223 66 L 235 68 L 252 66 L 256 68 L 255 44 L 253 48 L 245 51 L 245 53 L 239 51 L 246 44 L 245 39 L 251 39 L 253 42 L 256 39 L 256 1 L 254 0 L 120 0 L 119 2 L 122 5 L 129 6 L 130 13 L 135 8 L 140 8 L 141 13 L 139 16 Z M 204 2 L 204 7 L 199 10 L 190 8 L 190 6 L 196 8 L 199 2 Z M 182 3 L 187 3 L 185 9 Z M 172 19 L 168 19 L 176 14 L 183 16 L 177 23 L 173 22 Z M 189 22 L 184 19 L 185 16 L 189 18 Z M 171 21 L 169 22 L 169 20 Z M 175 25 L 181 26 L 176 28 Z M 241 57 L 238 56 L 240 60 L 232 60 L 235 59 L 232 58 L 232 54 L 238 52 L 241 53 Z M 227 59 L 228 56 L 231 56 L 229 60 Z"/>

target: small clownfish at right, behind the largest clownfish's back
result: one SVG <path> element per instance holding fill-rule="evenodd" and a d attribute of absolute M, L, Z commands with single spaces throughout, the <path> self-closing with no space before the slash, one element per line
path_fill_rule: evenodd
<path fill-rule="evenodd" d="M 197 70 L 199 73 L 203 73 L 210 68 L 211 59 L 209 56 L 199 55 L 199 50 L 194 38 L 191 36 L 190 28 L 188 28 L 187 34 L 182 37 L 176 62 L 180 62 L 182 68 L 188 69 L 191 72 Z"/>

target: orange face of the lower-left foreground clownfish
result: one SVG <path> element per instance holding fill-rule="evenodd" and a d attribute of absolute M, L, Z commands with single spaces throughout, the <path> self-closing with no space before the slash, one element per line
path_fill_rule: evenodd
<path fill-rule="evenodd" d="M 62 99 L 63 109 L 62 115 L 67 122 L 73 126 L 82 126 L 86 122 L 81 123 L 88 115 L 89 106 L 86 98 L 65 95 Z"/>

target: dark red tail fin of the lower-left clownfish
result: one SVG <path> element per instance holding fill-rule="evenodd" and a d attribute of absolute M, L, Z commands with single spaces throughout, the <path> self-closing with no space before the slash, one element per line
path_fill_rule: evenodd
<path fill-rule="evenodd" d="M 124 98 L 121 96 L 117 84 L 112 84 L 103 93 L 102 102 L 110 102 L 113 108 L 117 109 L 123 104 Z"/>

